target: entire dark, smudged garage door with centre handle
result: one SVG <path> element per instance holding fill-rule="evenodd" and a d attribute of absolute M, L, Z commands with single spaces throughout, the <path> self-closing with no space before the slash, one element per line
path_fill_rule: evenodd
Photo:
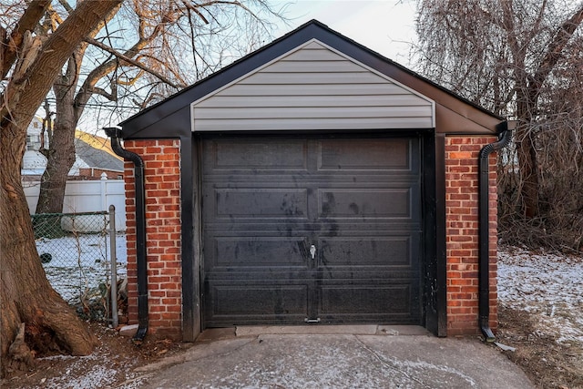
<path fill-rule="evenodd" d="M 421 323 L 418 138 L 202 140 L 203 322 Z"/>

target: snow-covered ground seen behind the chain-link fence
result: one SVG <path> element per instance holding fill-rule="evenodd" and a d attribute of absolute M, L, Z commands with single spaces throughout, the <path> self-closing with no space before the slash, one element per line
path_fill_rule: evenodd
<path fill-rule="evenodd" d="M 109 237 L 101 234 L 83 234 L 56 239 L 36 240 L 39 255 L 51 254 L 51 261 L 43 263 L 46 278 L 56 292 L 69 303 L 78 302 L 79 296 L 96 290 L 100 283 L 108 282 L 110 275 Z M 116 237 L 118 278 L 126 275 L 126 235 Z"/>

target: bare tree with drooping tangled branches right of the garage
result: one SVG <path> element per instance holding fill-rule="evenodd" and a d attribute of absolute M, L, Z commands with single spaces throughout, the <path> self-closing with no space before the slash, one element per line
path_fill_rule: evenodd
<path fill-rule="evenodd" d="M 577 214 L 581 197 L 551 176 L 568 170 L 582 177 L 583 2 L 418 0 L 417 10 L 420 71 L 518 120 L 515 148 L 500 171 L 502 220 L 544 227 L 564 190 L 571 194 L 565 211 Z"/>

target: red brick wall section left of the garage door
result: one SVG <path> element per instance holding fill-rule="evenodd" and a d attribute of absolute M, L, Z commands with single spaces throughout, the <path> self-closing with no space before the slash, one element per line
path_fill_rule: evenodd
<path fill-rule="evenodd" d="M 145 164 L 149 333 L 179 337 L 182 323 L 179 140 L 126 140 Z M 128 235 L 128 319 L 138 322 L 136 187 L 125 163 Z"/>

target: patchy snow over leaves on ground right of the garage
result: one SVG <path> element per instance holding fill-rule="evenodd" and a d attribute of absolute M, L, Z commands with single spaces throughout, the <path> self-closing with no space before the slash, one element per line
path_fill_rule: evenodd
<path fill-rule="evenodd" d="M 583 258 L 500 249 L 498 300 L 532 313 L 557 343 L 583 344 Z"/>

